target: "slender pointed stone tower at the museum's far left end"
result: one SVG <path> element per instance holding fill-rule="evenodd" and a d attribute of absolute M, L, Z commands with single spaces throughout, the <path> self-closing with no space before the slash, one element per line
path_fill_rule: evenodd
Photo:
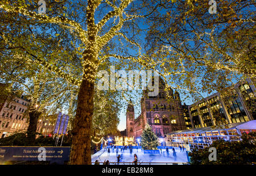
<path fill-rule="evenodd" d="M 133 132 L 134 132 L 134 106 L 130 99 L 130 102 L 126 110 L 126 133 L 127 133 L 126 135 L 128 137 L 134 136 Z"/>

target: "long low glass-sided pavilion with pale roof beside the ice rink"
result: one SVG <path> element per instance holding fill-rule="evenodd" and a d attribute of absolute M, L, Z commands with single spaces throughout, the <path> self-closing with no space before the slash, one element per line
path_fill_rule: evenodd
<path fill-rule="evenodd" d="M 231 123 L 218 127 L 203 127 L 180 130 L 167 134 L 168 146 L 183 146 L 189 151 L 193 148 L 208 147 L 214 140 L 239 141 L 243 133 L 256 131 L 256 120 Z"/>

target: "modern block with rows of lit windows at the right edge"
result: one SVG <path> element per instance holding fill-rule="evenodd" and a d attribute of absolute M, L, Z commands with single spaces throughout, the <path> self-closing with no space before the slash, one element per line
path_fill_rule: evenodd
<path fill-rule="evenodd" d="M 188 106 L 192 128 L 226 125 L 256 119 L 255 79 L 236 84 L 231 91 L 217 92 Z"/>

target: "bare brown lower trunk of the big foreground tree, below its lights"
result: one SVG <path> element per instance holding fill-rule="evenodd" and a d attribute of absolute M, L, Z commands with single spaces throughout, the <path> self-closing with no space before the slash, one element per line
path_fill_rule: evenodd
<path fill-rule="evenodd" d="M 92 164 L 90 157 L 90 128 L 93 115 L 94 83 L 83 79 L 77 98 L 76 117 L 72 129 L 72 148 L 69 164 Z"/>

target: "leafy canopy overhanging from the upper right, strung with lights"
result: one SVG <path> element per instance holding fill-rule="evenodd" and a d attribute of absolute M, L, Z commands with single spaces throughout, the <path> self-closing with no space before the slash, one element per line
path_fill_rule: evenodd
<path fill-rule="evenodd" d="M 206 0 L 162 1 L 148 18 L 147 53 L 169 83 L 212 93 L 255 76 L 255 2 L 216 2 L 210 14 Z"/>

